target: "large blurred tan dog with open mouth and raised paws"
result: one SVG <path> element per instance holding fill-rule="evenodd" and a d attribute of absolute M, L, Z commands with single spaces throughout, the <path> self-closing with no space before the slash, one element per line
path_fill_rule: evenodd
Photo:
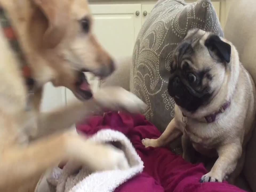
<path fill-rule="evenodd" d="M 114 62 L 91 34 L 93 21 L 87 1 L 0 0 L 0 7 L 4 10 L 0 30 L 0 191 L 34 191 L 47 168 L 68 159 L 97 170 L 129 167 L 122 151 L 63 132 L 103 109 L 135 112 L 145 107 L 135 95 L 118 87 L 99 90 L 90 99 L 90 86 L 82 72 L 103 78 L 114 71 Z M 3 28 L 5 16 L 16 32 L 23 59 L 16 57 L 21 52 L 10 46 L 13 35 L 10 28 Z M 20 70 L 22 62 L 31 73 L 26 80 L 33 80 L 27 84 L 33 87 L 32 97 L 28 97 L 30 88 Z M 84 102 L 40 113 L 46 82 L 69 88 Z"/>

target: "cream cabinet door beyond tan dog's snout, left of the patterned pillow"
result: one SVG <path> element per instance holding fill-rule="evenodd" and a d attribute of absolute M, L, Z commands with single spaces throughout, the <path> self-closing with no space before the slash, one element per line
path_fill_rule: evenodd
<path fill-rule="evenodd" d="M 114 58 L 130 56 L 141 28 L 141 4 L 98 4 L 90 5 L 94 18 L 93 33 L 103 48 Z M 136 15 L 136 11 L 137 15 Z M 88 78 L 88 77 L 87 77 Z M 99 81 L 93 76 L 89 83 L 95 90 Z M 66 91 L 67 103 L 75 99 L 73 93 Z"/>

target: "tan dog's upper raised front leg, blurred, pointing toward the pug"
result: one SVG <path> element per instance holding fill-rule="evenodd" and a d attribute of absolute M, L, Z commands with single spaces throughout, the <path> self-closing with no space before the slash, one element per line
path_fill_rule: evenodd
<path fill-rule="evenodd" d="M 121 87 L 105 87 L 94 94 L 94 99 L 83 103 L 74 102 L 50 113 L 41 113 L 38 134 L 33 139 L 68 129 L 74 123 L 89 115 L 99 113 L 103 109 L 140 112 L 145 108 L 146 104 L 129 91 Z"/>

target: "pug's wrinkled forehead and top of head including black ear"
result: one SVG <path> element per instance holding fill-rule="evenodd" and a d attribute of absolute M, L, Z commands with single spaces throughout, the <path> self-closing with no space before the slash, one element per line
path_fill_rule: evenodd
<path fill-rule="evenodd" d="M 218 35 L 192 29 L 174 50 L 170 67 L 171 70 L 182 69 L 185 63 L 193 63 L 190 67 L 194 70 L 201 70 L 212 63 L 225 65 L 230 62 L 230 56 L 231 46 Z M 183 62 L 184 60 L 187 62 Z"/>

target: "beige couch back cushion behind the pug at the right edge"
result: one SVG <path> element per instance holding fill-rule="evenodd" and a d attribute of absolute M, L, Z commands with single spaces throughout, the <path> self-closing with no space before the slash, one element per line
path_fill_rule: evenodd
<path fill-rule="evenodd" d="M 256 81 L 256 1 L 236 0 L 230 8 L 225 26 L 225 37 L 231 41 L 239 52 L 240 61 Z M 256 130 L 247 146 L 244 174 L 256 191 Z"/>

